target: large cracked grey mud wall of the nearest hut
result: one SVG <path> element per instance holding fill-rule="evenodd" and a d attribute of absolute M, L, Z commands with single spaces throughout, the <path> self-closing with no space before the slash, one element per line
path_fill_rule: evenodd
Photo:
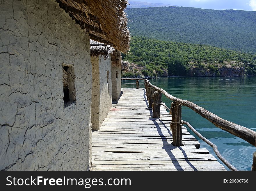
<path fill-rule="evenodd" d="M 89 169 L 89 36 L 54 0 L 1 0 L 0 13 L 0 170 Z M 62 63 L 76 90 L 65 109 Z"/>

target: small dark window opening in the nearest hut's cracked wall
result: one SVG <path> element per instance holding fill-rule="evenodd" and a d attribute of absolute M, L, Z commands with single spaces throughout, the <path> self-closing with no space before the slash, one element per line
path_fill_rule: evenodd
<path fill-rule="evenodd" d="M 73 65 L 62 64 L 64 108 L 76 101 L 75 75 Z"/>

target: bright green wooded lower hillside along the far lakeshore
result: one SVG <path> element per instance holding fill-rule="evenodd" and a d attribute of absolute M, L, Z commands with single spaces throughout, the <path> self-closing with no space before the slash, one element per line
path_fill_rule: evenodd
<path fill-rule="evenodd" d="M 141 74 L 156 77 L 157 74 L 162 76 L 164 73 L 188 76 L 195 68 L 199 70 L 200 75 L 208 71 L 209 74 L 220 76 L 218 68 L 228 66 L 242 67 L 246 75 L 256 75 L 256 54 L 144 37 L 131 38 L 131 52 L 122 55 L 122 59 L 134 62 L 138 66 L 145 66 L 141 71 L 135 70 L 136 74 L 130 72 L 124 77 Z"/>

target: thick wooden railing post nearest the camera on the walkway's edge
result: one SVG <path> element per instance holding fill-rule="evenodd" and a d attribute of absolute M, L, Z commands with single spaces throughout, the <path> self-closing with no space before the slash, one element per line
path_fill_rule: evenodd
<path fill-rule="evenodd" d="M 173 131 L 173 146 L 180 147 L 182 144 L 182 128 L 181 128 L 181 105 L 172 103 L 172 122 L 171 128 Z"/>

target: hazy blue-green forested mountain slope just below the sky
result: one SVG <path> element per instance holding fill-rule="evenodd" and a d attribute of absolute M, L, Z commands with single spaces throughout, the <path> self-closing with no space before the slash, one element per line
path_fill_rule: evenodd
<path fill-rule="evenodd" d="M 256 11 L 170 6 L 126 13 L 133 36 L 256 53 Z"/>

